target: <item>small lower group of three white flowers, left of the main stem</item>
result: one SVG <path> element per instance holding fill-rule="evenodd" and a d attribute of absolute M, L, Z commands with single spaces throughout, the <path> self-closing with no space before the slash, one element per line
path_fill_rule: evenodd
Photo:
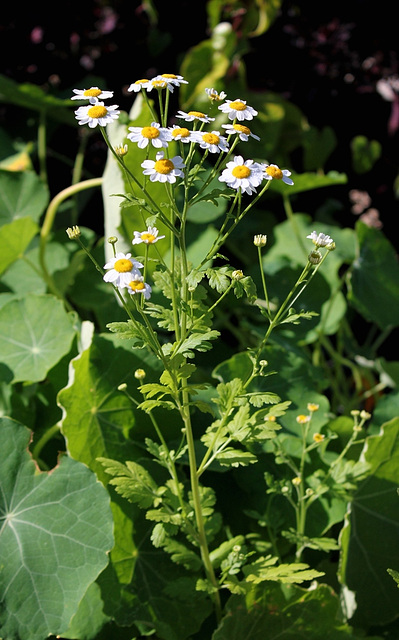
<path fill-rule="evenodd" d="M 134 231 L 132 244 L 140 244 L 141 242 L 147 245 L 154 244 L 165 237 L 158 235 L 158 233 L 156 227 L 148 227 L 146 231 Z M 112 282 L 119 289 L 126 288 L 130 295 L 141 293 L 148 300 L 152 289 L 149 284 L 144 282 L 140 271 L 143 267 L 141 262 L 132 258 L 131 253 L 119 252 L 104 265 L 104 269 L 107 269 L 104 280 Z"/>

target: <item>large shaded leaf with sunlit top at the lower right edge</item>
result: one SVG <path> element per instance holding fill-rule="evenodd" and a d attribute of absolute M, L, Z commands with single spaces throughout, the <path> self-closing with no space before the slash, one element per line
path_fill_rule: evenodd
<path fill-rule="evenodd" d="M 353 623 L 367 627 L 399 616 L 399 591 L 387 573 L 399 566 L 399 418 L 367 438 L 363 455 L 371 469 L 349 505 L 340 579 L 344 594 L 354 595 Z"/>

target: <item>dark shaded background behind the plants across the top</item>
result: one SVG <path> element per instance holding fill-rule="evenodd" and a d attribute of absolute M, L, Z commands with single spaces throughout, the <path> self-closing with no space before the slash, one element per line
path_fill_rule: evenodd
<path fill-rule="evenodd" d="M 234 3 L 233 3 L 234 4 Z M 206 2 L 156 1 L 158 17 L 151 19 L 145 3 L 126 0 L 69 0 L 36 3 L 21 10 L 17 3 L 2 9 L 1 73 L 17 82 L 31 82 L 57 96 L 69 97 L 72 87 L 85 86 L 88 75 L 103 79 L 126 108 L 129 84 L 156 73 L 178 72 L 186 51 L 209 37 Z M 225 3 L 226 17 L 238 37 L 245 2 Z M 233 10 L 234 9 L 234 10 Z M 366 191 L 379 224 L 394 236 L 397 216 L 395 180 L 398 174 L 398 126 L 395 102 L 377 91 L 381 78 L 398 72 L 397 25 L 370 0 L 294 2 L 286 0 L 271 28 L 248 42 L 243 59 L 248 86 L 272 90 L 292 101 L 316 127 L 333 127 L 339 144 L 326 169 L 348 174 L 341 190 L 343 222 L 353 226 L 350 189 Z M 0 124 L 17 134 L 21 113 L 0 105 Z M 27 126 L 29 123 L 27 123 Z M 365 135 L 382 144 L 382 155 L 371 172 L 353 171 L 350 142 Z M 62 144 L 73 142 L 61 140 Z M 67 151 L 67 149 L 65 149 Z M 98 175 L 105 145 L 94 138 L 88 166 Z M 51 168 L 50 168 L 51 170 Z M 69 184 L 56 159 L 52 164 L 55 190 Z M 58 179 L 57 179 L 58 178 Z M 378 223 L 378 220 L 377 220 Z"/>

